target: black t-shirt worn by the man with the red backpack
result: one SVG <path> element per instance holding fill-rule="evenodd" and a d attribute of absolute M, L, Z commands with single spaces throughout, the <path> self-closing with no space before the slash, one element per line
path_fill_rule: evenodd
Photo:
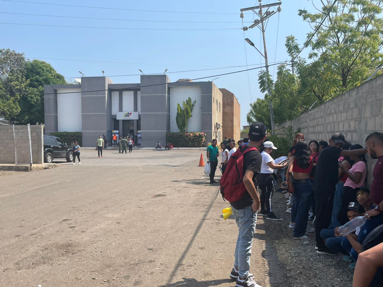
<path fill-rule="evenodd" d="M 246 150 L 245 147 L 244 150 Z M 257 186 L 258 175 L 261 173 L 261 165 L 262 165 L 262 155 L 258 150 L 251 150 L 247 152 L 243 156 L 243 168 L 244 174 L 247 170 L 251 170 L 254 172 L 253 182 L 254 186 Z M 250 196 L 249 192 L 245 191 L 243 196 L 237 201 L 230 202 L 231 206 L 235 209 L 244 209 L 245 207 L 253 204 L 253 199 Z"/>

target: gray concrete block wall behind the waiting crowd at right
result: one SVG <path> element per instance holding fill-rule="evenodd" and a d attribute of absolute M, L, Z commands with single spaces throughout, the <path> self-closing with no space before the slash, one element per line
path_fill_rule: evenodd
<path fill-rule="evenodd" d="M 292 121 L 276 126 L 292 126 L 301 129 L 308 143 L 310 140 L 328 140 L 335 132 L 344 134 L 350 143 L 364 146 L 365 139 L 371 132 L 383 132 L 383 75 L 337 96 L 316 108 L 301 114 Z M 373 179 L 372 171 L 376 163 L 368 155 L 367 186 Z"/>

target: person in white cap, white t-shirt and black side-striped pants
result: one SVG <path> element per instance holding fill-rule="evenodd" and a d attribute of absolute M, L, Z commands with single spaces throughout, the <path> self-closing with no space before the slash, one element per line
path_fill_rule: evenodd
<path fill-rule="evenodd" d="M 271 199 L 273 197 L 274 190 L 274 170 L 278 168 L 284 168 L 287 163 L 283 165 L 276 165 L 274 163 L 273 158 L 271 157 L 271 153 L 273 150 L 277 148 L 270 141 L 264 142 L 264 144 L 260 148 L 260 152 L 262 155 L 262 166 L 261 166 L 261 174 L 258 177 L 258 185 L 261 189 L 260 196 L 260 215 L 267 216 L 267 219 L 270 220 L 282 220 L 282 218 L 277 217 L 272 210 Z"/>

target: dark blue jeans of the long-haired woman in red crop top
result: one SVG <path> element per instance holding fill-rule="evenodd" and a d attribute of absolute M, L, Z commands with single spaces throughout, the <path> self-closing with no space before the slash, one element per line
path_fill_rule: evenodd
<path fill-rule="evenodd" d="M 293 206 L 295 206 L 294 237 L 300 237 L 306 232 L 308 214 L 311 205 L 311 179 L 293 179 L 294 193 Z M 291 219 L 293 209 L 291 209 Z"/>

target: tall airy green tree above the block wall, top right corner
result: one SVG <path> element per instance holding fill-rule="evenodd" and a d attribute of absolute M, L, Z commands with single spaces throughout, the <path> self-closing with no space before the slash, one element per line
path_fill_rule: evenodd
<path fill-rule="evenodd" d="M 318 13 L 299 10 L 298 15 L 316 29 L 332 2 L 321 0 L 321 7 L 315 7 Z M 382 0 L 336 2 L 308 43 L 312 49 L 309 59 L 313 62 L 305 71 L 306 91 L 327 101 L 367 80 L 382 60 L 382 7 Z M 308 39 L 313 33 L 308 34 Z"/>

